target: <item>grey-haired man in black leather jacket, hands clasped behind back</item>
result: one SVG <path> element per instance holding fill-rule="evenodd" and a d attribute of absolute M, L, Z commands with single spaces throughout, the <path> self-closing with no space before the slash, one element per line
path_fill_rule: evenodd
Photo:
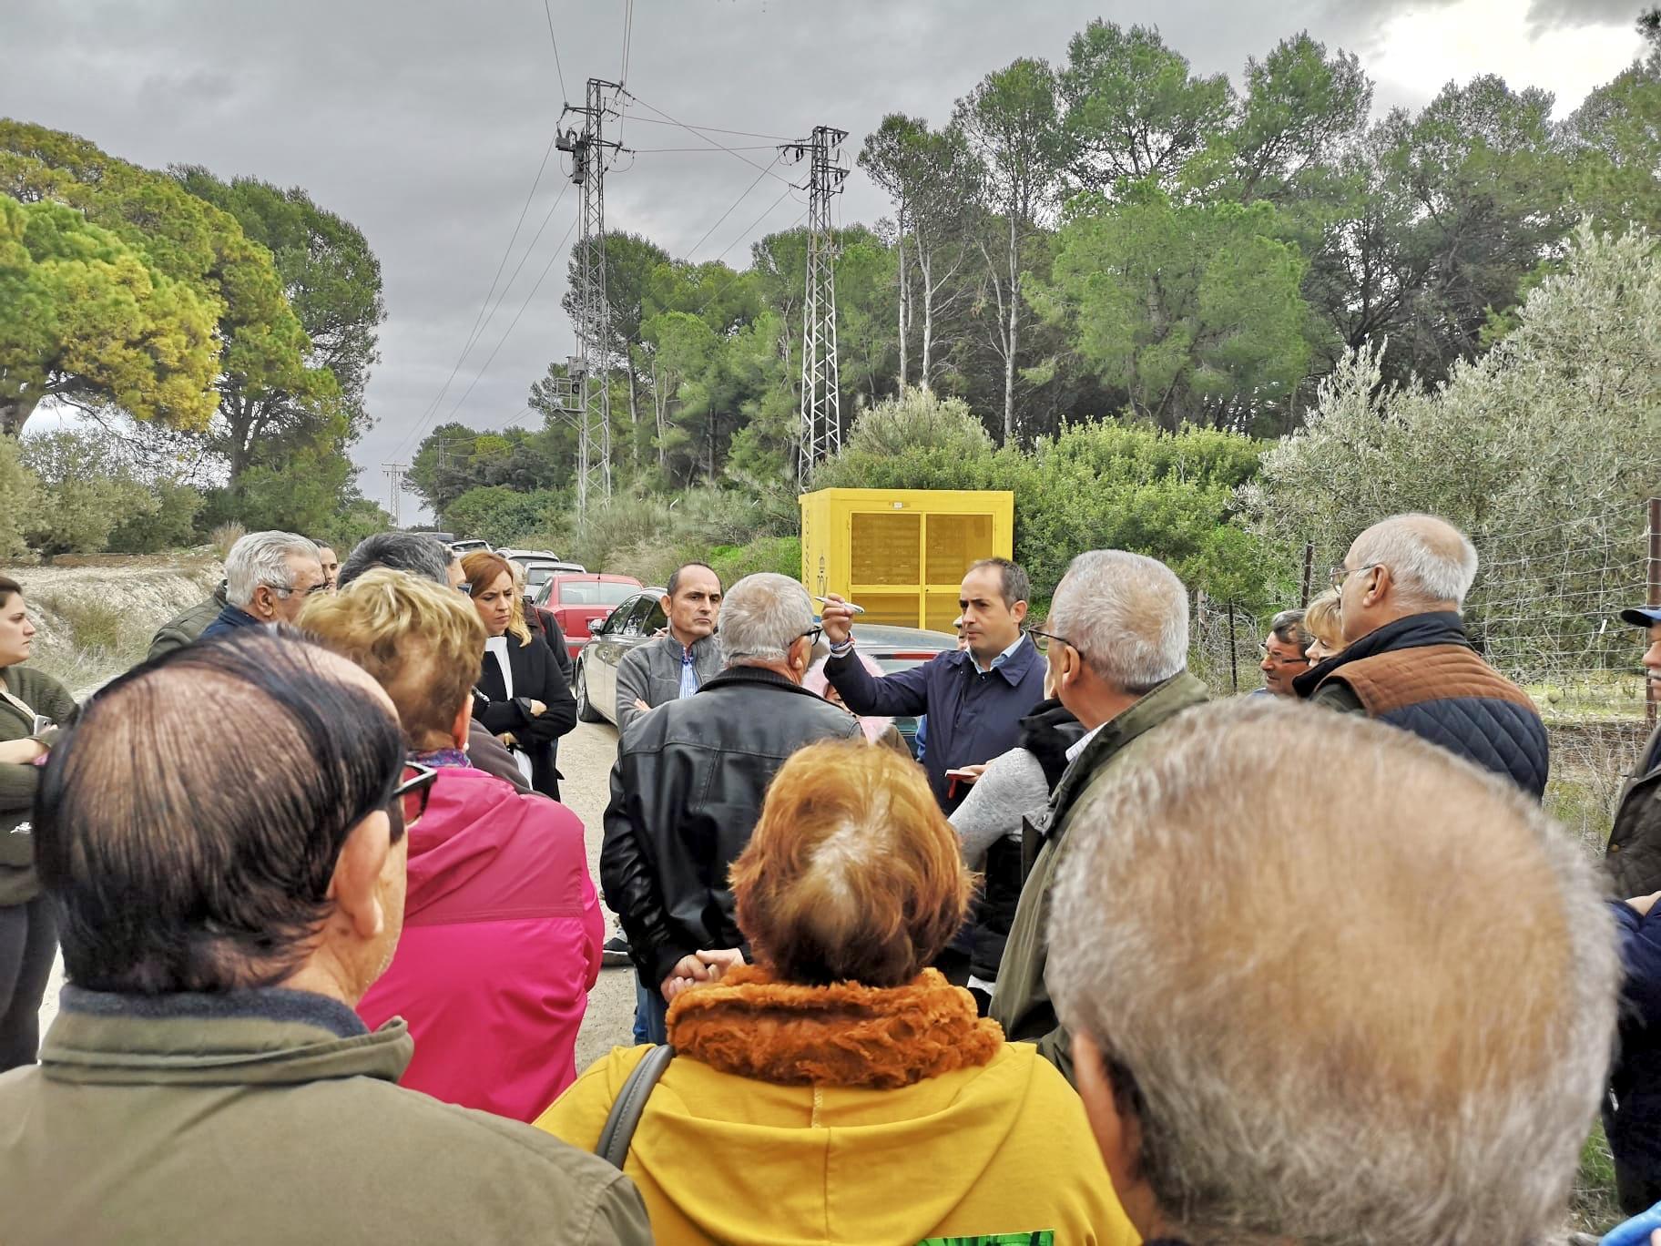
<path fill-rule="evenodd" d="M 721 605 L 726 670 L 623 733 L 600 881 L 648 987 L 648 1042 L 664 1042 L 679 990 L 739 955 L 728 867 L 774 771 L 804 744 L 859 736 L 857 719 L 801 686 L 819 636 L 806 588 L 747 575 Z"/>

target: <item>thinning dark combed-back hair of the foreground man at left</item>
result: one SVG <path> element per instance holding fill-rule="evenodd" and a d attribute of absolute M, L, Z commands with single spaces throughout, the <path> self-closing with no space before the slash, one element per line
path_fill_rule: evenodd
<path fill-rule="evenodd" d="M 53 749 L 37 799 L 70 980 L 138 993 L 281 982 L 402 763 L 375 681 L 292 636 L 247 628 L 116 679 Z"/>

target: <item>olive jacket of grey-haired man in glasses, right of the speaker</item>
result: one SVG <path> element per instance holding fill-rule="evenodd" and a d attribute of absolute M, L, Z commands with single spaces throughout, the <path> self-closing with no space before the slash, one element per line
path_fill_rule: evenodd
<path fill-rule="evenodd" d="M 1136 744 L 1153 728 L 1206 699 L 1206 686 L 1188 671 L 1173 675 L 1136 704 L 1110 719 L 1088 738 L 1073 758 L 1061 781 L 1050 794 L 1050 806 L 1038 826 L 1028 822 L 1022 836 L 1023 854 L 1036 854 L 1022 887 L 1022 902 L 1010 925 L 1010 940 L 998 967 L 998 987 L 992 995 L 992 1018 L 1015 1043 L 1038 1043 L 1038 1053 L 1073 1080 L 1071 1035 L 1055 1015 L 1050 987 L 1045 982 L 1050 934 L 1050 892 L 1058 864 L 1066 852 L 1066 834 L 1101 787 L 1110 771 L 1134 764 Z"/>

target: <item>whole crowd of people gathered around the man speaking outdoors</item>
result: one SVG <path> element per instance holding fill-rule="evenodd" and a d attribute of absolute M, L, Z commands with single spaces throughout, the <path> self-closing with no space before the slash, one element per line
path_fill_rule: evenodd
<path fill-rule="evenodd" d="M 1043 620 L 978 562 L 890 673 L 857 603 L 688 563 L 598 892 L 505 558 L 251 533 L 81 706 L 0 576 L 0 1241 L 1510 1246 L 1563 1239 L 1600 1110 L 1636 1216 L 1661 731 L 1600 874 L 1477 570 L 1385 518 L 1214 699 L 1144 555 Z M 636 1042 L 578 1070 L 616 959 Z"/>

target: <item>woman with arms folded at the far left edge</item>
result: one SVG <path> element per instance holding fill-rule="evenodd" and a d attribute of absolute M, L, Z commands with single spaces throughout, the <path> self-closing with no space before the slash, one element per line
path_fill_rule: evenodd
<path fill-rule="evenodd" d="M 35 879 L 28 821 L 38 763 L 56 729 L 75 718 L 75 698 L 50 675 L 23 666 L 33 641 L 23 588 L 0 575 L 0 1073 L 35 1063 L 40 1000 L 58 947 Z"/>

